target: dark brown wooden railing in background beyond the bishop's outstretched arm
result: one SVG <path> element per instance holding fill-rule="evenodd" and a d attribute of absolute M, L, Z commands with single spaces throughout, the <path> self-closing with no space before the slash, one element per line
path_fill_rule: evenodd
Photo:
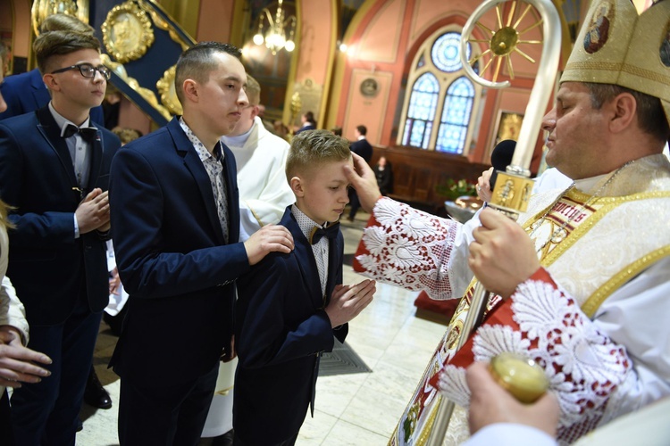
<path fill-rule="evenodd" d="M 446 216 L 447 198 L 437 194 L 435 186 L 446 183 L 448 178 L 476 182 L 482 171 L 490 168 L 489 164 L 471 162 L 465 156 L 406 146 L 374 146 L 371 165 L 381 156 L 393 169 L 393 194 L 389 196 L 440 216 Z"/>

